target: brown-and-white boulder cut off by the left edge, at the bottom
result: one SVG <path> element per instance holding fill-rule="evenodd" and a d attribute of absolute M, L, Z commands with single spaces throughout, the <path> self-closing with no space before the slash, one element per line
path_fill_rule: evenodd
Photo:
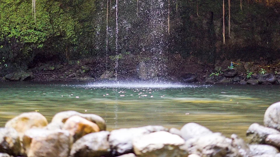
<path fill-rule="evenodd" d="M 13 128 L 0 128 L 0 152 L 18 156 L 20 150 L 20 138 L 17 131 Z M 6 155 L 2 154 L 2 156 Z"/>

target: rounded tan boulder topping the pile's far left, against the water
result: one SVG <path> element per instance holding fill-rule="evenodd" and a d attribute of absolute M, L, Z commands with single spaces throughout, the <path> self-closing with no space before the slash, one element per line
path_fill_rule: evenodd
<path fill-rule="evenodd" d="M 43 128 L 47 125 L 48 121 L 41 113 L 28 112 L 9 120 L 5 127 L 14 128 L 18 133 L 24 133 L 28 129 Z"/>

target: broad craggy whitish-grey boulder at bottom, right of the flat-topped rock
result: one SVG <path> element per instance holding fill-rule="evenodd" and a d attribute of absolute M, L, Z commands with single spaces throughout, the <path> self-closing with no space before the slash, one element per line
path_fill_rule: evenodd
<path fill-rule="evenodd" d="M 220 133 L 212 133 L 191 138 L 181 148 L 205 157 L 241 157 L 238 147 L 233 147 L 231 142 Z"/>

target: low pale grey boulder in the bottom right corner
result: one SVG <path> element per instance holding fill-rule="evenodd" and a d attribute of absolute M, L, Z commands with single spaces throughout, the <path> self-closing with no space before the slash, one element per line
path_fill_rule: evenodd
<path fill-rule="evenodd" d="M 276 155 L 277 153 L 279 153 L 279 150 L 277 148 L 267 144 L 252 144 L 249 147 L 252 156 L 263 155 L 263 154 Z"/>

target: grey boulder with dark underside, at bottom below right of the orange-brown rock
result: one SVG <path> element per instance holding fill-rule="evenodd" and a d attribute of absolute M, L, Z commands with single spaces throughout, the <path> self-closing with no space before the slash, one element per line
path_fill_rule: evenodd
<path fill-rule="evenodd" d="M 71 149 L 71 157 L 99 157 L 110 156 L 108 131 L 90 133 L 77 140 Z"/>

